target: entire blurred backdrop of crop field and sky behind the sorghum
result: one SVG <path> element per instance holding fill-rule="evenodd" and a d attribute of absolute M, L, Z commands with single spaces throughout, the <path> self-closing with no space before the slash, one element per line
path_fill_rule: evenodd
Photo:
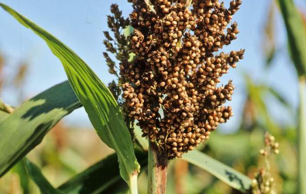
<path fill-rule="evenodd" d="M 116 79 L 108 72 L 109 67 L 103 58 L 106 51 L 103 31 L 109 31 L 107 15 L 110 15 L 110 5 L 117 3 L 122 15 L 127 17 L 133 11 L 131 3 L 125 0 L 0 2 L 30 18 L 78 53 L 103 83 Z M 226 5 L 229 2 L 225 0 Z M 234 115 L 212 132 L 209 140 L 197 150 L 254 179 L 258 169 L 267 165 L 260 150 L 265 146 L 265 133 L 269 132 L 279 144 L 279 154 L 272 154 L 268 159 L 275 191 L 279 194 L 303 194 L 306 188 L 301 185 L 306 185 L 303 182 L 306 181 L 303 169 L 306 169 L 301 169 L 301 166 L 303 161 L 306 162 L 306 155 L 301 152 L 304 150 L 306 153 L 306 146 L 301 142 L 306 142 L 303 136 L 306 131 L 301 131 L 306 130 L 306 55 L 302 55 L 306 54 L 306 45 L 302 42 L 306 43 L 306 1 L 294 0 L 293 7 L 288 8 L 294 9 L 298 21 L 296 17 L 284 14 L 284 6 L 291 6 L 290 2 L 293 1 L 242 0 L 233 18 L 238 22 L 238 38 L 222 49 L 225 52 L 245 49 L 244 59 L 221 78 L 221 83 L 233 80 L 236 86 L 233 99 L 226 103 L 233 108 Z M 286 18 L 291 20 L 286 21 Z M 2 9 L 0 26 L 1 102 L 18 110 L 25 100 L 67 80 L 61 62 L 45 42 Z M 303 36 L 304 40 L 301 40 Z M 0 155 L 5 157 L 2 153 L 8 148 L 4 150 L 1 141 L 0 136 Z M 40 168 L 52 187 L 58 188 L 114 153 L 100 140 L 82 107 L 59 121 L 27 154 L 27 160 Z M 138 193 L 146 194 L 148 169 L 139 159 L 138 162 L 141 166 Z M 28 173 L 22 174 L 20 168 L 17 163 L 0 178 L 0 194 L 44 193 L 36 180 Z M 96 178 L 99 176 L 104 175 L 101 172 Z M 96 192 L 113 193 L 110 190 Z M 168 164 L 167 193 L 239 194 L 241 190 L 187 160 L 175 159 Z"/>

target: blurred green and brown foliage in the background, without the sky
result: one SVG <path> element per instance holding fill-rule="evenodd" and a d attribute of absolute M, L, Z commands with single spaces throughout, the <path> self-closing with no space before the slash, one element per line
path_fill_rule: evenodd
<path fill-rule="evenodd" d="M 306 29 L 306 15 L 301 11 Z M 265 70 L 268 75 L 272 70 L 272 61 L 282 52 L 276 44 L 276 17 L 280 10 L 276 2 L 271 1 L 266 13 L 266 20 L 262 23 L 262 54 L 265 58 Z M 243 24 L 240 24 L 243 25 Z M 302 26 L 301 26 L 302 27 Z M 241 45 L 243 47 L 243 45 Z M 2 72 L 6 65 L 7 57 L 5 48 L 0 53 L 0 94 L 3 87 L 11 87 L 18 91 L 18 101 L 24 100 L 23 83 L 28 74 L 28 63 L 21 63 L 14 75 L 5 76 Z M 242 62 L 243 63 L 243 62 Z M 217 130 L 202 146 L 201 151 L 213 158 L 234 167 L 241 173 L 254 178 L 258 167 L 264 162 L 258 154 L 264 146 L 265 131 L 273 134 L 280 144 L 280 154 L 271 158 L 272 176 L 276 181 L 276 189 L 282 194 L 297 193 L 297 110 L 278 91 L 282 87 L 272 87 L 262 77 L 253 80 L 250 72 L 240 71 L 243 77 L 244 96 L 243 110 L 236 117 L 240 117 L 239 128 L 232 133 L 223 133 Z M 271 106 L 271 101 L 273 101 Z M 272 115 L 273 111 L 284 110 L 293 121 L 289 124 L 282 122 Z M 37 164 L 43 175 L 50 183 L 57 187 L 85 170 L 88 166 L 101 160 L 114 151 L 105 146 L 95 134 L 94 130 L 70 127 L 65 122 L 60 122 L 44 138 L 42 144 L 30 152 L 28 158 Z M 142 171 L 144 172 L 144 171 Z M 30 179 L 20 181 L 19 175 L 26 177 L 27 172 L 22 171 L 22 164 L 18 163 L 9 173 L 0 179 L 0 194 L 36 194 L 39 189 Z M 146 173 L 139 176 L 139 192 L 147 192 Z M 169 194 L 238 194 L 229 186 L 204 172 L 196 166 L 182 160 L 170 162 L 167 192 Z"/>

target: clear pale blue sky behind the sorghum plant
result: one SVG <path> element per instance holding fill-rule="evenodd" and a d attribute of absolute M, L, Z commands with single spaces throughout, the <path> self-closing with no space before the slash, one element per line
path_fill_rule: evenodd
<path fill-rule="evenodd" d="M 111 3 L 118 3 L 123 14 L 127 16 L 132 7 L 126 0 L 0 0 L 27 16 L 36 24 L 51 32 L 62 42 L 73 49 L 98 74 L 105 83 L 113 79 L 108 74 L 102 52 L 105 50 L 102 31 L 107 30 L 106 15 Z M 225 0 L 228 4 L 229 0 Z M 305 0 L 296 0 L 300 10 L 306 10 Z M 263 27 L 267 19 L 270 0 L 243 0 L 241 9 L 235 15 L 240 33 L 238 39 L 226 51 L 246 49 L 245 59 L 236 69 L 232 69 L 222 80 L 232 79 L 237 87 L 233 101 L 234 116 L 222 126 L 223 130 L 233 131 L 238 127 L 240 112 L 245 98 L 244 83 L 241 76 L 246 71 L 256 82 L 267 82 L 297 106 L 297 78 L 287 54 L 287 39 L 284 24 L 277 11 L 277 45 L 280 51 L 273 61 L 269 72 L 264 69 L 264 51 L 262 47 Z M 20 60 L 30 65 L 24 82 L 24 97 L 33 97 L 52 85 L 66 80 L 66 74 L 59 60 L 54 57 L 46 44 L 28 29 L 20 26 L 11 16 L 0 10 L 0 51 L 6 56 L 4 73 L 7 76 L 17 71 Z M 5 102 L 18 106 L 17 92 L 6 85 L 0 95 Z M 287 122 L 288 113 L 274 109 L 275 102 L 269 111 L 274 117 Z M 292 116 L 292 115 L 291 115 Z M 79 109 L 65 118 L 75 126 L 90 126 L 83 109 Z"/>

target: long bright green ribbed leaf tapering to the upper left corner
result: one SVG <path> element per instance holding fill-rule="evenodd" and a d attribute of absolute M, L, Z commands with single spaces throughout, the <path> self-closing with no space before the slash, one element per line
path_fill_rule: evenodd
<path fill-rule="evenodd" d="M 109 89 L 88 65 L 66 45 L 10 7 L 2 3 L 0 6 L 22 25 L 45 40 L 53 54 L 62 62 L 68 81 L 83 104 L 99 137 L 107 146 L 116 150 L 122 178 L 130 186 L 135 184 L 135 177 L 137 177 L 140 166 L 135 157 L 129 130 L 125 126 L 119 106 Z"/>

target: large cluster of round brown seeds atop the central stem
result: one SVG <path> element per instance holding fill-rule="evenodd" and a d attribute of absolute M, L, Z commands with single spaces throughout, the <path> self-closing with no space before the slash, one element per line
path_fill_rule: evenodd
<path fill-rule="evenodd" d="M 232 115 L 223 106 L 234 85 L 220 77 L 244 50 L 218 52 L 237 38 L 230 23 L 241 0 L 228 9 L 219 0 L 129 0 L 134 61 L 120 65 L 129 116 L 169 159 L 180 158 L 209 138 Z"/>

